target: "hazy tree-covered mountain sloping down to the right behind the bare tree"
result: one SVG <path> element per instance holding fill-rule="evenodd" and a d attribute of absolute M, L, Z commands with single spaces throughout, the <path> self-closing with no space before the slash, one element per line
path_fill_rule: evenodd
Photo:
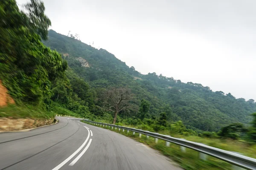
<path fill-rule="evenodd" d="M 170 122 L 182 120 L 191 129 L 207 131 L 219 130 L 234 122 L 247 124 L 251 121 L 250 114 L 256 112 L 253 99 L 236 99 L 230 93 L 214 92 L 201 84 L 184 83 L 161 74 L 140 74 L 105 49 L 93 48 L 73 36 L 49 30 L 48 40 L 43 43 L 67 60 L 69 81 L 62 90 L 72 89 L 73 95 L 84 101 L 90 113 L 96 116 L 103 114 L 97 99 L 109 87 L 130 88 L 135 96 L 132 107 L 120 112 L 119 116 L 123 118 L 138 118 L 141 99 L 150 103 L 149 116 L 152 119 L 166 112 Z M 55 88 L 61 89 L 61 86 L 55 85 Z M 66 100 L 65 95 L 61 99 L 59 92 L 52 99 Z"/>

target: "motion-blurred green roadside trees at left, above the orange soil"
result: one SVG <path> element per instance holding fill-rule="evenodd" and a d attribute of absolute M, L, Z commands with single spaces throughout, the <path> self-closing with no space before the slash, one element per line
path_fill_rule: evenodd
<path fill-rule="evenodd" d="M 32 14 L 42 4 L 32 0 L 27 5 L 26 15 L 15 0 L 0 3 L 0 79 L 16 102 L 42 105 L 51 96 L 51 83 L 64 77 L 67 62 L 46 47 L 37 34 L 35 22 L 48 20 L 44 15 Z M 49 24 L 43 26 L 40 28 L 47 30 Z M 46 37 L 47 31 L 40 35 Z"/>

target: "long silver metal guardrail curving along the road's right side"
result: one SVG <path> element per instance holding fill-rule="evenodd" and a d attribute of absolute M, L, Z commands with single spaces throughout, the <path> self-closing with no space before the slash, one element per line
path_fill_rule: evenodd
<path fill-rule="evenodd" d="M 107 124 L 107 123 L 101 123 L 101 122 L 93 122 L 90 120 L 86 120 L 83 119 L 85 122 L 89 122 L 91 124 L 95 124 L 95 125 L 105 125 L 105 126 L 110 126 L 110 127 L 116 127 L 119 129 L 123 129 L 123 130 L 128 130 L 128 131 L 132 131 L 134 133 L 139 133 L 139 134 L 144 134 L 147 136 L 152 136 L 155 139 L 162 139 L 166 142 L 171 142 L 174 144 L 178 144 L 182 147 L 187 147 L 193 150 L 196 150 L 200 153 L 204 153 L 207 154 L 209 156 L 213 156 L 215 158 L 221 159 L 223 161 L 229 162 L 230 164 L 242 167 L 244 169 L 247 170 L 256 170 L 256 159 L 247 157 L 247 156 L 243 156 L 237 153 L 233 153 L 227 150 L 222 150 L 222 149 L 218 149 L 215 147 L 210 147 L 207 146 L 205 144 L 200 144 L 197 142 L 191 142 L 191 141 L 187 141 L 186 139 L 179 139 L 179 138 L 174 138 L 171 136 L 167 136 L 167 135 L 162 135 L 159 133 L 154 133 L 154 132 L 149 132 L 149 131 L 145 131 L 145 130 L 140 130 L 140 129 L 135 129 L 135 128 L 131 128 L 131 127 L 124 127 L 124 126 L 118 126 L 118 125 L 112 125 L 112 124 Z M 140 135 L 141 136 L 141 135 Z M 156 141 L 157 142 L 157 141 Z"/>

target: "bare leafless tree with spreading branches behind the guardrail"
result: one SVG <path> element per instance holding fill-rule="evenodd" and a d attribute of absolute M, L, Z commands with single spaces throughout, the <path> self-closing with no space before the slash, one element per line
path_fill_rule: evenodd
<path fill-rule="evenodd" d="M 113 124 L 116 123 L 117 114 L 131 106 L 133 94 L 129 88 L 111 88 L 102 96 L 105 111 L 114 113 Z"/>

